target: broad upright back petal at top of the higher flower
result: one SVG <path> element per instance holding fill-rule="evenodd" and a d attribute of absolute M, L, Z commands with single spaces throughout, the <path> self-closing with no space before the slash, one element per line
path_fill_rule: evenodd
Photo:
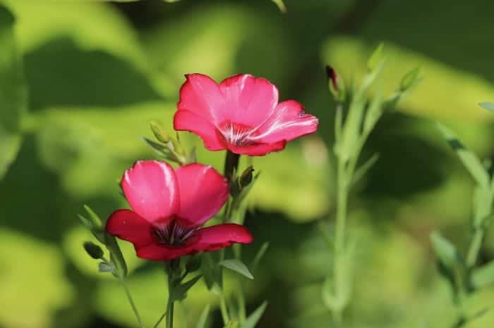
<path fill-rule="evenodd" d="M 224 118 L 254 129 L 265 122 L 278 103 L 275 85 L 248 74 L 227 78 L 219 89 L 224 96 Z"/>

